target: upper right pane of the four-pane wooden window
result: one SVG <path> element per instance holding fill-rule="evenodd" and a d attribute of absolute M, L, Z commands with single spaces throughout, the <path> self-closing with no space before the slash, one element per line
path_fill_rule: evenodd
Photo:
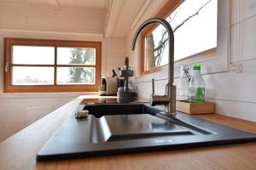
<path fill-rule="evenodd" d="M 96 65 L 96 48 L 57 48 L 58 65 Z"/>

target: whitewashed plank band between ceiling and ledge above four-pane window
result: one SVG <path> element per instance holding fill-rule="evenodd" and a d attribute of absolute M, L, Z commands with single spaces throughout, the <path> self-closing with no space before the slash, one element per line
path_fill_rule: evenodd
<path fill-rule="evenodd" d="M 103 34 L 105 11 L 0 5 L 0 20 L 6 29 Z"/>

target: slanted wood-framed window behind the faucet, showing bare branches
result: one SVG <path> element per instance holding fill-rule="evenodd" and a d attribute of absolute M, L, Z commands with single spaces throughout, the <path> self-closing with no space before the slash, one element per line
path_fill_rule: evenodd
<path fill-rule="evenodd" d="M 212 57 L 217 48 L 218 0 L 170 1 L 158 17 L 174 31 L 174 60 Z M 164 26 L 143 31 L 143 74 L 159 71 L 168 63 L 168 35 Z M 194 61 L 194 60 L 193 60 Z"/>

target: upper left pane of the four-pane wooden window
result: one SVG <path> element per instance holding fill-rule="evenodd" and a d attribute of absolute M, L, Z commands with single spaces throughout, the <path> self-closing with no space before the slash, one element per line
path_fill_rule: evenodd
<path fill-rule="evenodd" d="M 54 47 L 13 46 L 13 64 L 54 65 Z"/>

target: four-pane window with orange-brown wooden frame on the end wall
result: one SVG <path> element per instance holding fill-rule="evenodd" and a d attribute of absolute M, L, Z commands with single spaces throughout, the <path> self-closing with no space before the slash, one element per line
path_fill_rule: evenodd
<path fill-rule="evenodd" d="M 5 92 L 97 91 L 101 42 L 5 38 Z"/>

